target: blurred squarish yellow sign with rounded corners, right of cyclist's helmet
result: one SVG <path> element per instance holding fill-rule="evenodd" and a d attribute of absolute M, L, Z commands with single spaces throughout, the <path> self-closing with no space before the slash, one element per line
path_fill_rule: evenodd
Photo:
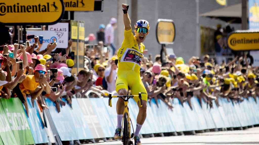
<path fill-rule="evenodd" d="M 173 44 L 175 40 L 175 24 L 173 20 L 158 19 L 156 24 L 156 39 L 160 44 Z"/>

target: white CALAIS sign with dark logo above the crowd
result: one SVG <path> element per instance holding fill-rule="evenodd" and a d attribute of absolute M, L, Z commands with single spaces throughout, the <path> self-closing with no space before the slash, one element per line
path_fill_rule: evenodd
<path fill-rule="evenodd" d="M 54 31 L 58 39 L 58 48 L 67 48 L 68 46 L 68 23 L 56 23 L 48 26 L 49 31 Z M 44 38 L 44 37 L 43 37 Z"/>

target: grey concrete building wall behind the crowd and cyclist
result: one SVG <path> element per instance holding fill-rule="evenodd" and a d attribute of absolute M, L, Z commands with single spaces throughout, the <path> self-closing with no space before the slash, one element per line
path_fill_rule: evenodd
<path fill-rule="evenodd" d="M 132 20 L 132 27 L 138 19 L 145 19 L 150 23 L 150 33 L 144 44 L 148 49 L 148 54 L 151 53 L 153 57 L 159 54 L 161 49 L 161 45 L 156 41 L 157 19 L 174 20 L 175 42 L 167 47 L 172 48 L 177 56 L 183 57 L 185 62 L 192 56 L 200 56 L 199 43 L 197 47 L 197 41 L 200 42 L 197 26 L 216 27 L 218 23 L 222 26 L 227 25 L 223 21 L 204 17 L 199 17 L 199 23 L 197 23 L 197 15 L 224 7 L 215 0 L 199 0 L 199 13 L 197 13 L 197 0 L 104 0 L 103 12 L 75 12 L 75 20 L 85 21 L 85 36 L 87 37 L 90 33 L 96 34 L 99 24 L 107 25 L 110 18 L 117 18 L 118 27 L 115 30 L 114 40 L 116 46 L 120 47 L 124 31 L 122 3 L 130 5 L 128 13 Z M 228 0 L 227 6 L 238 3 L 241 3 L 241 0 Z M 235 30 L 241 29 L 241 24 L 230 25 Z"/>

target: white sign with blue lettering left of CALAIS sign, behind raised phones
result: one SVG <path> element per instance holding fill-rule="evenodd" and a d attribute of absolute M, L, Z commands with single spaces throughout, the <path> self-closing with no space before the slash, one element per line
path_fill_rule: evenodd
<path fill-rule="evenodd" d="M 43 36 L 43 43 L 40 48 L 40 51 L 47 48 L 49 43 L 57 42 L 57 48 L 60 48 L 59 45 L 59 37 L 56 36 L 56 33 L 54 31 L 27 31 L 27 35 L 37 35 L 37 36 Z M 30 44 L 34 43 L 34 39 L 30 40 Z M 53 50 L 54 51 L 54 50 Z"/>

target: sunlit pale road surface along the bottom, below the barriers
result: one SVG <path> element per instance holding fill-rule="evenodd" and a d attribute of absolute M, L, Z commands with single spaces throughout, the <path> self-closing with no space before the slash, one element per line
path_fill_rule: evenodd
<path fill-rule="evenodd" d="M 141 139 L 143 145 L 257 145 L 259 144 L 259 127 L 238 131 L 219 131 L 198 133 L 196 135 L 154 137 Z M 95 143 L 96 145 L 119 145 L 121 141 Z"/>

